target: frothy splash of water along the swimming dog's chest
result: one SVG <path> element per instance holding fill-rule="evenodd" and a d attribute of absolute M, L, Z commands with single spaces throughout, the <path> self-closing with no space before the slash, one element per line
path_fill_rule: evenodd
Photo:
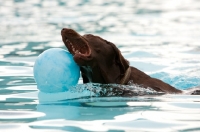
<path fill-rule="evenodd" d="M 120 84 L 99 84 L 99 83 L 87 83 L 79 84 L 69 89 L 72 93 L 80 93 L 84 91 L 90 91 L 91 96 L 98 97 L 110 97 L 110 96 L 142 96 L 142 95 L 160 95 L 163 92 L 157 92 L 152 88 L 144 88 L 140 85 L 136 85 L 130 81 L 128 85 Z"/>

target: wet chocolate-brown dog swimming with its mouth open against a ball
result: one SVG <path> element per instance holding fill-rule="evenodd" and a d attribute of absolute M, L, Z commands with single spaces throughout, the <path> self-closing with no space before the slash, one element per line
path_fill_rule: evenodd
<path fill-rule="evenodd" d="M 122 84 L 129 81 L 164 93 L 182 93 L 171 85 L 152 78 L 129 65 L 119 49 L 111 42 L 92 34 L 80 35 L 73 29 L 63 28 L 62 41 L 80 66 L 83 83 Z"/>

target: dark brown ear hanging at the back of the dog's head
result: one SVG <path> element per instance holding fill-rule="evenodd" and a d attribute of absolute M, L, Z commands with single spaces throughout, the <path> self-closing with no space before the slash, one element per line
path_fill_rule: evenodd
<path fill-rule="evenodd" d="M 116 56 L 115 56 L 115 62 L 120 67 L 120 71 L 122 74 L 126 72 L 126 70 L 129 67 L 129 61 L 127 61 L 121 54 L 121 51 L 115 46 L 115 44 L 105 40 L 107 44 L 111 45 L 114 49 Z"/>

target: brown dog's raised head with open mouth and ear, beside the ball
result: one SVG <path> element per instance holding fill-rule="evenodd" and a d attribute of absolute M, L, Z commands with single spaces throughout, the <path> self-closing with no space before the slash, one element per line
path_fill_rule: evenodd
<path fill-rule="evenodd" d="M 99 66 L 104 74 L 108 73 L 108 70 L 123 74 L 129 67 L 129 62 L 124 59 L 119 49 L 99 36 L 82 36 L 68 28 L 62 29 L 61 35 L 65 46 L 79 66 Z"/>

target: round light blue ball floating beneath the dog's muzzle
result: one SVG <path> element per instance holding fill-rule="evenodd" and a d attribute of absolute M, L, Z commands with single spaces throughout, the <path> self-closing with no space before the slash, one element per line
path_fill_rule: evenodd
<path fill-rule="evenodd" d="M 66 50 L 51 48 L 38 56 L 33 74 L 40 91 L 64 92 L 78 83 L 80 67 Z"/>

